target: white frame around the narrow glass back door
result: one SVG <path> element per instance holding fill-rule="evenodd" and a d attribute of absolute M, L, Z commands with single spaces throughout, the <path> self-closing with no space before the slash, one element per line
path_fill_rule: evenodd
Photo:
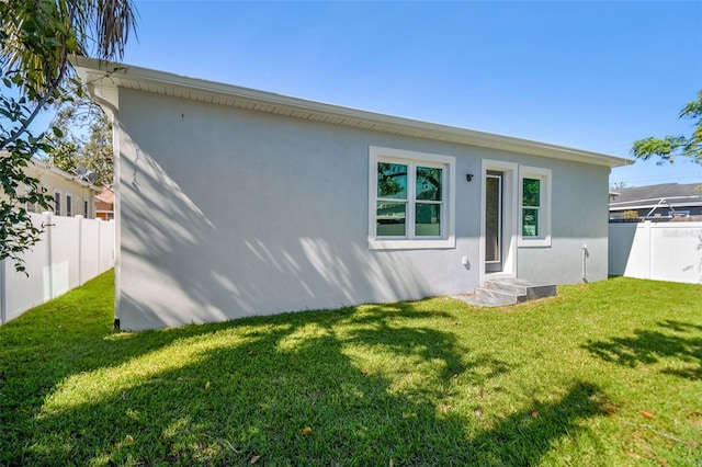
<path fill-rule="evenodd" d="M 486 179 L 489 171 L 502 172 L 502 271 L 485 271 Z M 480 168 L 479 282 L 494 277 L 517 277 L 519 166 L 513 162 L 483 159 Z"/>

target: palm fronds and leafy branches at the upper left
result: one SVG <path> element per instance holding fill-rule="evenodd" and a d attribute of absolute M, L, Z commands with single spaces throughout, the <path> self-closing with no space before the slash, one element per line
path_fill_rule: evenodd
<path fill-rule="evenodd" d="M 0 1 L 0 260 L 23 271 L 22 253 L 39 239 L 27 203 L 50 208 L 52 197 L 23 169 L 49 153 L 55 139 L 34 134 L 32 123 L 52 105 L 71 99 L 69 58 L 121 58 L 135 26 L 131 0 Z M 50 129 L 63 137 L 58 126 Z"/>

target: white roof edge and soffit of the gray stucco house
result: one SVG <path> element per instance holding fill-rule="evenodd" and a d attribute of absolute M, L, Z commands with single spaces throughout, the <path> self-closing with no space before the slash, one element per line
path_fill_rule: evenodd
<path fill-rule="evenodd" d="M 124 88 L 360 129 L 500 149 L 610 168 L 631 163 L 624 158 L 599 152 L 288 98 L 147 68 L 111 64 L 87 57 L 75 57 L 72 60 L 82 80 L 90 83 L 90 91 L 106 111 L 118 107 L 117 89 Z"/>

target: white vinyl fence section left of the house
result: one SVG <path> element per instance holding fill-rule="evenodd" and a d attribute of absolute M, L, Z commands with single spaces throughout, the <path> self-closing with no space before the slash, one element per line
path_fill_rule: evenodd
<path fill-rule="evenodd" d="M 84 284 L 114 265 L 113 220 L 31 214 L 42 240 L 24 253 L 29 276 L 0 261 L 0 324 Z"/>

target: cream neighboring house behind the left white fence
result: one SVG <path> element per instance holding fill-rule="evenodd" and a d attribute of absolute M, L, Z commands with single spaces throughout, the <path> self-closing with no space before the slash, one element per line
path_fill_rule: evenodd
<path fill-rule="evenodd" d="M 25 173 L 37 179 L 39 185 L 46 190 L 46 194 L 54 197 L 52 203 L 54 215 L 95 217 L 93 196 L 100 193 L 100 187 L 36 158 L 32 158 L 25 168 Z M 36 204 L 27 204 L 26 209 L 31 213 L 45 210 Z"/>

